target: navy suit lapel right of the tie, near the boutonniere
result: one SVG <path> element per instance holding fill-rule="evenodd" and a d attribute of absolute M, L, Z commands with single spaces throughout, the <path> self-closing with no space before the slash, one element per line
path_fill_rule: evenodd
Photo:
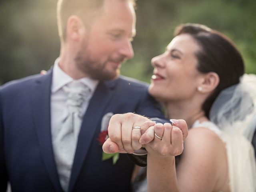
<path fill-rule="evenodd" d="M 97 130 L 98 122 L 102 118 L 102 112 L 114 94 L 116 80 L 100 82 L 90 100 L 90 104 L 84 115 L 84 120 L 78 136 L 78 144 L 72 167 L 70 186 L 68 191 L 72 191 L 80 169 L 92 142 L 92 138 Z"/>

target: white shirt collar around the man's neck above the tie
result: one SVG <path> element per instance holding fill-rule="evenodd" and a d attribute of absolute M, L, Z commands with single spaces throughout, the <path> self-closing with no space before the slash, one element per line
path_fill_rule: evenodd
<path fill-rule="evenodd" d="M 59 66 L 60 58 L 57 58 L 54 62 L 53 71 L 52 71 L 52 93 L 57 92 L 59 89 L 61 89 L 64 85 L 74 81 L 72 77 L 70 77 L 68 74 L 66 74 Z M 88 77 L 80 78 L 78 81 L 84 83 L 86 86 L 88 86 L 91 90 L 91 92 L 94 92 L 96 89 L 99 81 L 98 80 L 92 80 Z"/>

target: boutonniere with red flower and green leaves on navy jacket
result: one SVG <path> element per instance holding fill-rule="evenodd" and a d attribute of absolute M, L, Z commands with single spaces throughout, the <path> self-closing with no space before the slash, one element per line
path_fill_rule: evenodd
<path fill-rule="evenodd" d="M 104 142 L 108 139 L 108 123 L 110 118 L 113 116 L 113 113 L 107 113 L 103 116 L 102 118 L 102 123 L 101 123 L 101 132 L 98 135 L 97 141 L 99 144 L 102 146 Z M 119 153 L 113 153 L 113 154 L 107 154 L 102 151 L 102 161 L 108 160 L 110 158 L 113 158 L 113 164 L 116 164 L 117 160 L 119 159 Z"/>

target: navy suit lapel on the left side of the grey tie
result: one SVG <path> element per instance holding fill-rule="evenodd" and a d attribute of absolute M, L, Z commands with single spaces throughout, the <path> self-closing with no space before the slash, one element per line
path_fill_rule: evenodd
<path fill-rule="evenodd" d="M 38 143 L 45 168 L 54 188 L 61 192 L 58 173 L 54 161 L 50 122 L 50 95 L 52 83 L 52 70 L 37 80 L 32 92 L 32 112 L 36 125 Z"/>

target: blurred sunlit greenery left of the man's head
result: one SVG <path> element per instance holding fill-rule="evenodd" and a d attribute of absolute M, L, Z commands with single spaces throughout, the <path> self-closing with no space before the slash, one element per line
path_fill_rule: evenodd
<path fill-rule="evenodd" d="M 55 3 L 52 0 L 2 2 L 0 82 L 36 74 L 52 65 L 59 49 Z"/>

